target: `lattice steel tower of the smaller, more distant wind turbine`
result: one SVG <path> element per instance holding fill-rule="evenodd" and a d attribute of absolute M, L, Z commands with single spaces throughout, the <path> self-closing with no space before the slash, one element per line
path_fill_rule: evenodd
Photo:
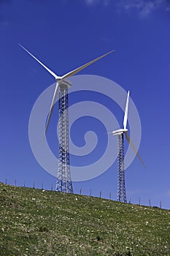
<path fill-rule="evenodd" d="M 123 133 L 117 135 L 117 201 L 127 203 L 125 195 L 124 140 Z"/>

